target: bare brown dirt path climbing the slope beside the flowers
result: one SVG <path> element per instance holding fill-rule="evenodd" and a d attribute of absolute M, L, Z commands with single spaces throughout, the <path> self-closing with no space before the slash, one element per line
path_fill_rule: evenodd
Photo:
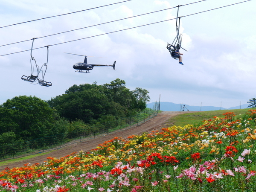
<path fill-rule="evenodd" d="M 190 112 L 190 111 L 189 111 Z M 102 137 L 98 137 L 96 139 L 86 140 L 81 143 L 74 143 L 72 145 L 68 145 L 66 147 L 60 148 L 55 151 L 51 151 L 49 154 L 33 157 L 29 160 L 21 160 L 19 162 L 11 163 L 5 166 L 0 166 L 0 171 L 4 170 L 6 167 L 9 167 L 12 169 L 13 167 L 22 167 L 26 163 L 43 163 L 47 160 L 47 157 L 64 157 L 68 154 L 71 154 L 73 152 L 79 152 L 81 150 L 83 151 L 90 151 L 93 148 L 96 148 L 99 144 L 104 143 L 105 141 L 113 139 L 113 137 L 122 137 L 126 138 L 130 135 L 138 135 L 142 134 L 147 131 L 153 131 L 153 130 L 159 130 L 163 127 L 165 127 L 165 123 L 172 117 L 176 116 L 180 113 L 188 113 L 187 112 L 177 112 L 177 111 L 163 111 L 162 113 L 159 113 L 157 116 L 153 117 L 152 119 L 146 121 L 145 123 L 126 129 L 125 131 L 116 132 L 113 134 L 108 134 Z"/>

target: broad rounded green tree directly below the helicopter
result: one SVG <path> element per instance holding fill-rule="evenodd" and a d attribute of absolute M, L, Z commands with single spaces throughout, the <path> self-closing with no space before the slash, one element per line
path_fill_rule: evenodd
<path fill-rule="evenodd" d="M 81 119 L 89 123 L 105 115 L 108 97 L 102 86 L 82 84 L 70 87 L 65 94 L 52 98 L 48 103 L 70 121 Z"/>

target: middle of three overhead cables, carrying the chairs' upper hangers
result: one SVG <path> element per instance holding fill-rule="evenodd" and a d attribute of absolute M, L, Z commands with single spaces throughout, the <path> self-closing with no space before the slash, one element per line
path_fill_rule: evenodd
<path fill-rule="evenodd" d="M 202 1 L 206 1 L 206 0 L 201 0 L 201 1 L 194 2 L 194 3 L 199 3 L 199 2 L 202 2 Z M 193 4 L 193 3 L 185 4 L 185 5 L 182 5 L 182 6 L 186 6 L 186 5 L 190 5 L 190 4 Z M 80 30 L 80 29 L 85 29 L 85 28 L 89 28 L 89 27 L 93 27 L 93 26 L 99 26 L 99 25 L 103 25 L 103 24 L 107 24 L 107 23 L 113 23 L 113 22 L 120 21 L 120 20 L 125 20 L 125 19 L 130 19 L 130 18 L 134 18 L 134 17 L 143 16 L 143 15 L 148 15 L 148 14 L 152 14 L 152 13 L 156 13 L 156 12 L 162 12 L 162 11 L 166 11 L 166 10 L 173 9 L 173 8 L 176 8 L 176 7 L 171 7 L 171 8 L 167 8 L 167 9 L 161 9 L 161 10 L 154 11 L 154 12 L 144 13 L 144 14 L 141 14 L 141 15 L 135 15 L 135 16 L 126 17 L 126 18 L 122 18 L 122 19 L 118 19 L 118 20 L 113 20 L 113 21 L 108 21 L 108 22 L 105 22 L 105 23 L 100 23 L 100 24 L 96 24 L 96 25 L 86 26 L 86 27 L 82 27 L 82 28 L 79 28 L 79 29 L 73 29 L 73 30 L 69 30 L 69 31 L 65 31 L 65 32 L 59 32 L 59 33 L 55 33 L 55 34 L 52 34 L 52 35 L 42 36 L 42 37 L 39 37 L 39 38 L 46 38 L 46 37 L 49 37 L 49 36 L 59 35 L 59 34 L 62 34 L 62 33 L 72 32 L 72 31 L 76 31 L 76 30 Z M 30 40 L 31 39 L 24 40 L 24 41 L 18 41 L 18 42 L 15 42 L 15 43 L 10 43 L 10 44 L 5 44 L 5 45 L 0 45 L 0 47 L 7 46 L 7 45 L 12 45 L 12 44 L 23 43 L 23 42 L 30 41 Z"/>

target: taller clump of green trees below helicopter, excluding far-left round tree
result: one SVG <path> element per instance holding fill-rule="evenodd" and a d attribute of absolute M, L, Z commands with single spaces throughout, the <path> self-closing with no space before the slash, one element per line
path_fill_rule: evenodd
<path fill-rule="evenodd" d="M 84 123 L 95 124 L 97 119 L 106 115 L 116 119 L 143 110 L 148 101 L 148 91 L 136 88 L 131 91 L 125 87 L 125 81 L 116 79 L 110 84 L 73 85 L 65 94 L 48 101 L 61 117 L 69 121 L 82 120 Z"/>

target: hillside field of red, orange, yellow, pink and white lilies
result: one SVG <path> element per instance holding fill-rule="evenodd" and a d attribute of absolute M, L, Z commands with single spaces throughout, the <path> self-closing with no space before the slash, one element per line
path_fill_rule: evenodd
<path fill-rule="evenodd" d="M 0 191 L 254 192 L 256 110 L 113 138 L 89 151 L 0 172 Z"/>

